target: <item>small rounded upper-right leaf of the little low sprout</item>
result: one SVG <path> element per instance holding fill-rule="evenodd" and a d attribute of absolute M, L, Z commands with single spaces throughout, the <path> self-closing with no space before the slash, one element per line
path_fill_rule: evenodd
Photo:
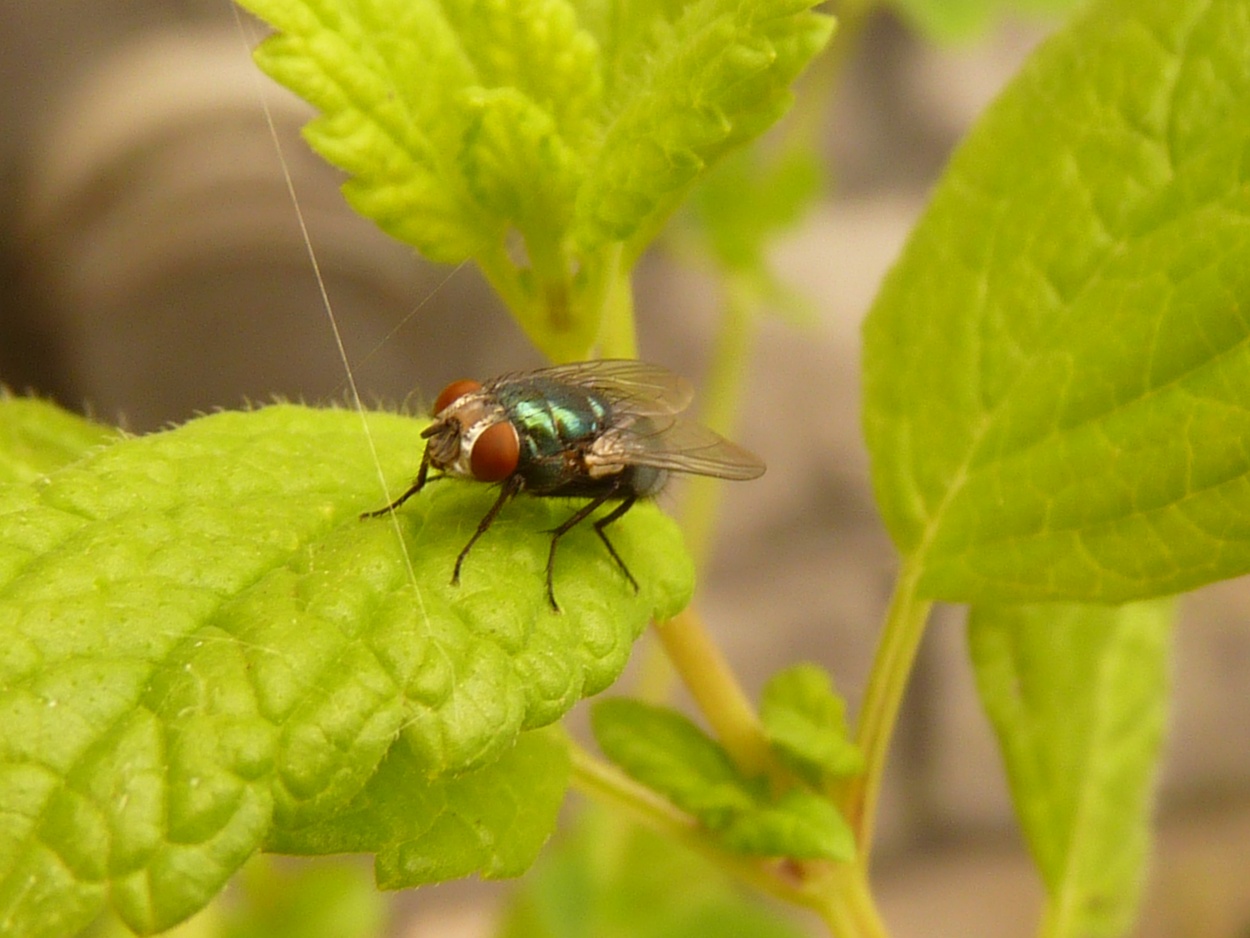
<path fill-rule="evenodd" d="M 864 768 L 846 727 L 846 703 L 815 664 L 795 664 L 769 679 L 760 720 L 781 759 L 818 789 Z"/>

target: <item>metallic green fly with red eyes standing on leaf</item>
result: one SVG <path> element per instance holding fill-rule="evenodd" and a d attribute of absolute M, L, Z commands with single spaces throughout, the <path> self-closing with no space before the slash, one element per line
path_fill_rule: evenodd
<path fill-rule="evenodd" d="M 395 510 L 432 479 L 500 483 L 499 498 L 456 558 L 455 585 L 469 549 L 514 497 L 588 499 L 549 532 L 546 593 L 559 612 L 551 585 L 556 544 L 600 505 L 619 502 L 594 528 L 636 593 L 638 580 L 608 538 L 609 524 L 639 499 L 656 495 L 670 473 L 735 480 L 764 474 L 759 456 L 681 419 L 692 396 L 682 378 L 628 359 L 555 365 L 485 384 L 454 381 L 439 394 L 434 423 L 421 433 L 428 441 L 416 479 L 391 504 L 361 518 Z M 442 475 L 431 478 L 431 469 Z"/>

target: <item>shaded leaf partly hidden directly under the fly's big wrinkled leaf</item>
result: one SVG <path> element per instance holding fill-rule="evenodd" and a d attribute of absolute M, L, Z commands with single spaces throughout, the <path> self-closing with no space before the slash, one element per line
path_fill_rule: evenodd
<path fill-rule="evenodd" d="M 276 830 L 279 853 L 376 853 L 384 889 L 466 877 L 515 877 L 555 829 L 569 750 L 551 730 L 522 733 L 489 765 L 428 782 L 422 762 L 394 745 L 378 773 L 332 817 Z"/>

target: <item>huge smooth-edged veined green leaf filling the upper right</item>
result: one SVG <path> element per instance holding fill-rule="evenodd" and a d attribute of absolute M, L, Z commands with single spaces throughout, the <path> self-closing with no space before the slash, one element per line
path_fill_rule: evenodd
<path fill-rule="evenodd" d="M 1250 572 L 1250 16 L 1100 0 L 960 148 L 865 324 L 920 593 L 1124 602 Z"/>

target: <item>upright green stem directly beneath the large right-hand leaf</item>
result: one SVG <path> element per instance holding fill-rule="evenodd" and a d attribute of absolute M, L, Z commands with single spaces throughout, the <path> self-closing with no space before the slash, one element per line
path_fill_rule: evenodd
<path fill-rule="evenodd" d="M 885 757 L 899 719 L 899 707 L 908 689 L 920 639 L 932 603 L 916 598 L 918 572 L 904 567 L 895 583 L 885 618 L 885 632 L 876 649 L 868 692 L 860 708 L 855 742 L 864 753 L 864 773 L 848 787 L 842 805 L 846 820 L 855 830 L 860 862 L 868 868 L 876 824 L 876 803 L 881 794 Z"/>

